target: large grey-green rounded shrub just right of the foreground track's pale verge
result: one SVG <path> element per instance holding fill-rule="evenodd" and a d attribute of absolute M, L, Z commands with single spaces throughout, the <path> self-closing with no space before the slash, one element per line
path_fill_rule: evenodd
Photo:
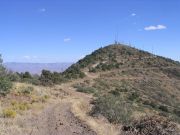
<path fill-rule="evenodd" d="M 132 105 L 120 97 L 102 95 L 94 101 L 91 115 L 103 115 L 112 123 L 129 123 L 132 115 Z"/>

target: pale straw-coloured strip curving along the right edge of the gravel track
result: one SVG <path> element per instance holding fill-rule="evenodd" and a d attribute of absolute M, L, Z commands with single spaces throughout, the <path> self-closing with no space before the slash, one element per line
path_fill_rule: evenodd
<path fill-rule="evenodd" d="M 79 82 L 81 82 L 81 80 L 79 80 Z M 103 117 L 94 118 L 88 115 L 92 108 L 92 105 L 90 104 L 92 96 L 77 92 L 72 87 L 74 83 L 77 83 L 77 81 L 59 86 L 60 89 L 66 90 L 66 92 L 70 94 L 66 100 L 72 103 L 71 112 L 95 131 L 97 135 L 118 135 L 119 127 L 110 124 Z"/>

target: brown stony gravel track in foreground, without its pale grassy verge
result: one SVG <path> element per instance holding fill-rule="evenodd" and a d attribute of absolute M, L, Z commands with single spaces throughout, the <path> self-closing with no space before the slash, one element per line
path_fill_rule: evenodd
<path fill-rule="evenodd" d="M 59 103 L 46 108 L 35 120 L 31 135 L 96 135 L 70 111 L 70 103 Z"/>

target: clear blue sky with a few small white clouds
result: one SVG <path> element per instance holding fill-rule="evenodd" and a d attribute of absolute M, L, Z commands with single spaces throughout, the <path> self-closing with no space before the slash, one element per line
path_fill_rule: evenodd
<path fill-rule="evenodd" d="M 75 62 L 119 42 L 180 60 L 180 0 L 0 0 L 4 62 Z"/>

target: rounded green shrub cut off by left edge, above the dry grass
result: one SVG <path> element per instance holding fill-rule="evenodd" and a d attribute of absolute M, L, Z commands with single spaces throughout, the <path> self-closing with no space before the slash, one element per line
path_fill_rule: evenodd
<path fill-rule="evenodd" d="M 12 82 L 7 77 L 0 76 L 0 94 L 7 95 L 11 88 Z"/>

